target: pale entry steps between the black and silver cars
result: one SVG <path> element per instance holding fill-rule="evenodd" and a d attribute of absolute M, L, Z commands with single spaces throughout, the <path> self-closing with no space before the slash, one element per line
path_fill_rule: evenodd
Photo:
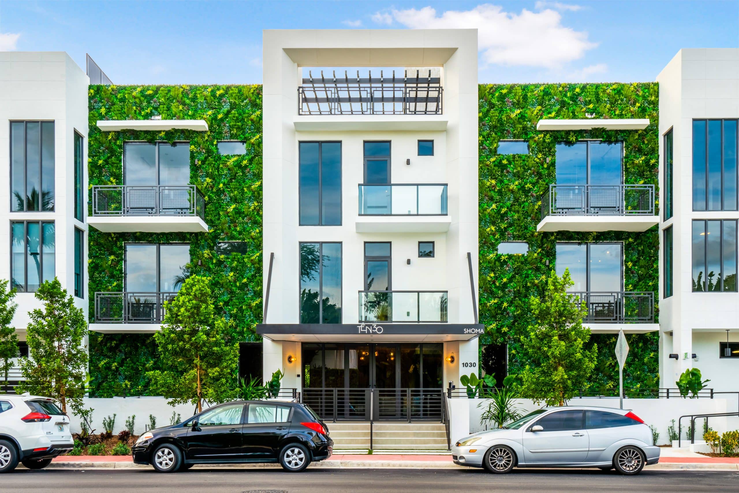
<path fill-rule="evenodd" d="M 327 423 L 333 449 L 369 449 L 369 421 Z M 375 422 L 372 425 L 372 448 L 375 450 L 448 450 L 443 423 Z"/>

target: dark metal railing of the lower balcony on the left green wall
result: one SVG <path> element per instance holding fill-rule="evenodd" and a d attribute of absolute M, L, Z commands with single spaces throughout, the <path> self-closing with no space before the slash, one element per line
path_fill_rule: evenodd
<path fill-rule="evenodd" d="M 95 323 L 160 324 L 177 293 L 95 293 Z"/>

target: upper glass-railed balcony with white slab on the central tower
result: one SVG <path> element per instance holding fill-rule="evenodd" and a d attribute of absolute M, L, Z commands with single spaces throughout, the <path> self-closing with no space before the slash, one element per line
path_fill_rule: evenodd
<path fill-rule="evenodd" d="M 359 185 L 358 233 L 444 233 L 446 183 Z"/>

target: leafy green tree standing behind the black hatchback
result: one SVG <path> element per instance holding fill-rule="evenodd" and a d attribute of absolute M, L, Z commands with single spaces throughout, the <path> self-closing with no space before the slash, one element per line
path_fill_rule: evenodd
<path fill-rule="evenodd" d="M 160 363 L 166 370 L 148 372 L 151 390 L 172 400 L 224 402 L 235 397 L 238 364 L 236 343 L 226 341 L 224 319 L 214 316 L 209 279 L 190 276 L 171 302 L 165 304 L 162 329 L 154 334 Z"/>

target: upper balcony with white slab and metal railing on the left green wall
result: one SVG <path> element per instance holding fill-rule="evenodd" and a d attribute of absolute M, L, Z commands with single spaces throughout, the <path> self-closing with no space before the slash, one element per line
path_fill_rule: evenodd
<path fill-rule="evenodd" d="M 205 198 L 197 186 L 92 187 L 90 225 L 104 233 L 205 233 Z"/>

